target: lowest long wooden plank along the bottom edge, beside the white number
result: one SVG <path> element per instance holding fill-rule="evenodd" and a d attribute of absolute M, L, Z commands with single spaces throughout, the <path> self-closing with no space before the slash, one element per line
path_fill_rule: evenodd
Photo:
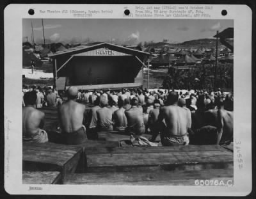
<path fill-rule="evenodd" d="M 67 175 L 64 184 L 104 184 L 104 185 L 190 185 L 195 186 L 195 180 L 223 180 L 233 182 L 233 171 L 227 169 L 212 169 L 202 171 L 156 171 L 127 173 L 72 173 Z"/>

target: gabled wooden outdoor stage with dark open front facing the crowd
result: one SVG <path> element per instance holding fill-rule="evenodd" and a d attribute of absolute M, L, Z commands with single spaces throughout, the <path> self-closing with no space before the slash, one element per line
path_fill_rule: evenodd
<path fill-rule="evenodd" d="M 76 86 L 83 90 L 138 88 L 150 54 L 119 45 L 79 45 L 48 54 L 53 60 L 58 90 Z"/>

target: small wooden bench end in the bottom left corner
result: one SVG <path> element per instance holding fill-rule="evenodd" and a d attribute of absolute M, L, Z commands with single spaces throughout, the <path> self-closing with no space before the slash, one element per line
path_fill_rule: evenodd
<path fill-rule="evenodd" d="M 22 184 L 61 184 L 58 171 L 23 171 Z"/>

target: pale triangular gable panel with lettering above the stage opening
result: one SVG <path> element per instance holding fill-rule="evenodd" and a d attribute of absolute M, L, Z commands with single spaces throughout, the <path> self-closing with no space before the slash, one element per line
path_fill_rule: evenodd
<path fill-rule="evenodd" d="M 79 54 L 74 54 L 74 56 L 132 56 L 131 54 L 126 54 L 124 52 L 113 51 L 106 47 L 100 49 L 95 49 L 93 51 L 81 52 Z"/>

